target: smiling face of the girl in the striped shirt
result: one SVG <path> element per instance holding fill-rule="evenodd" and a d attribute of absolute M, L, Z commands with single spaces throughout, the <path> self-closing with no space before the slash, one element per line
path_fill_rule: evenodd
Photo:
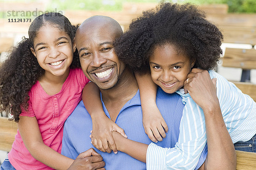
<path fill-rule="evenodd" d="M 183 87 L 194 63 L 169 43 L 157 46 L 149 58 L 151 78 L 166 93 L 175 93 Z"/>

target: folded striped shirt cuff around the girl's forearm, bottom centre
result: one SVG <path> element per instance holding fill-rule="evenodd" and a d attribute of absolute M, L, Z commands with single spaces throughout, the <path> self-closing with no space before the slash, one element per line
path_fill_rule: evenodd
<path fill-rule="evenodd" d="M 147 170 L 166 170 L 166 151 L 168 148 L 157 146 L 153 142 L 148 145 L 146 155 Z"/>

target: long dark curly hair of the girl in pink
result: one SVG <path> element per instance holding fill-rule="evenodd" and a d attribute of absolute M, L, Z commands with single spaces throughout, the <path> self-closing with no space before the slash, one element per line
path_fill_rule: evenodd
<path fill-rule="evenodd" d="M 50 12 L 35 18 L 29 26 L 29 38 L 23 40 L 10 52 L 8 58 L 0 66 L 0 111 L 12 114 L 15 122 L 19 121 L 21 107 L 28 108 L 29 90 L 44 74 L 30 48 L 42 26 L 50 24 L 66 32 L 73 40 L 78 26 L 72 26 L 70 21 L 60 13 Z M 74 52 L 70 68 L 80 68 L 79 55 Z M 11 119 L 11 120 L 12 120 Z"/>

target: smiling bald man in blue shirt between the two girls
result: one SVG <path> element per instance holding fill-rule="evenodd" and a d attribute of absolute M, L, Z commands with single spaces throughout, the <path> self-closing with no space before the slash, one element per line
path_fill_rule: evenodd
<path fill-rule="evenodd" d="M 150 144 L 151 140 L 143 128 L 137 81 L 132 71 L 114 52 L 113 41 L 120 35 L 121 27 L 110 17 L 94 16 L 85 20 L 78 28 L 75 40 L 81 67 L 85 76 L 100 88 L 106 115 L 125 130 L 129 139 Z M 178 140 L 184 105 L 178 94 L 166 94 L 159 88 L 157 106 L 169 127 L 166 139 L 157 142 L 157 145 L 174 147 Z M 81 101 L 65 122 L 62 154 L 75 159 L 79 153 L 93 147 L 90 143 L 90 130 L 91 117 Z M 103 157 L 108 170 L 146 169 L 145 163 L 125 153 L 103 153 L 96 148 L 95 150 Z M 205 157 L 202 154 L 198 167 Z"/>

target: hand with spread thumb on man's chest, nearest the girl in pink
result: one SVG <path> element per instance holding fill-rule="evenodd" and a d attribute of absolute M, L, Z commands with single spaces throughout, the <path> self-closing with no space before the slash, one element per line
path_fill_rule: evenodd
<path fill-rule="evenodd" d="M 116 144 L 114 142 L 112 132 L 116 131 L 125 138 L 127 138 L 125 131 L 116 125 L 111 119 L 107 116 L 100 117 L 100 118 L 92 118 L 93 122 L 93 130 L 90 138 L 92 139 L 92 144 L 98 150 L 102 152 L 111 153 L 111 148 L 114 153 L 117 153 Z M 108 147 L 108 143 L 111 146 Z"/>

